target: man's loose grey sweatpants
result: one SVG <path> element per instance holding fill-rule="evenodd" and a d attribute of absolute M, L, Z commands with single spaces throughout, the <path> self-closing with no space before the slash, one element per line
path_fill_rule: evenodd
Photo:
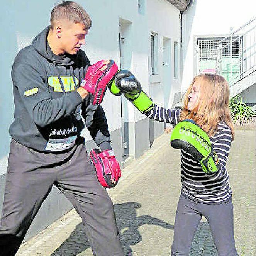
<path fill-rule="evenodd" d="M 113 203 L 97 180 L 85 146 L 53 154 L 12 139 L 0 222 L 1 256 L 15 255 L 53 185 L 81 216 L 94 255 L 124 255 Z"/>

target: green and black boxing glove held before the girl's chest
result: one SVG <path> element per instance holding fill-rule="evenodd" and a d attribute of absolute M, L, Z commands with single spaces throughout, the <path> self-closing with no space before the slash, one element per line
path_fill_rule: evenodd
<path fill-rule="evenodd" d="M 207 174 L 220 170 L 220 161 L 205 131 L 193 120 L 179 122 L 171 134 L 171 146 L 183 149 L 197 159 Z"/>

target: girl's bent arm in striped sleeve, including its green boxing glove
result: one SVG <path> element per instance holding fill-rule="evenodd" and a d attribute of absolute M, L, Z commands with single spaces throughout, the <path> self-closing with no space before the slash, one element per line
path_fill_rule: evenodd
<path fill-rule="evenodd" d="M 171 135 L 171 146 L 183 149 L 197 159 L 202 170 L 211 179 L 226 175 L 225 165 L 231 142 L 230 129 L 221 129 L 214 137 L 208 134 L 193 120 L 186 119 L 175 126 Z"/>

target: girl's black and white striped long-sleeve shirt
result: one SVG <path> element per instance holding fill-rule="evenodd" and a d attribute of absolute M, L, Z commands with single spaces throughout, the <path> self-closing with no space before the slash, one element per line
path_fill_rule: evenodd
<path fill-rule="evenodd" d="M 150 119 L 177 124 L 180 110 L 155 107 L 147 113 Z M 220 170 L 213 174 L 206 174 L 199 161 L 183 149 L 181 150 L 181 193 L 186 197 L 202 203 L 224 203 L 231 198 L 229 175 L 226 162 L 231 145 L 231 129 L 224 122 L 218 123 L 218 130 L 210 137 L 215 152 L 220 159 Z"/>

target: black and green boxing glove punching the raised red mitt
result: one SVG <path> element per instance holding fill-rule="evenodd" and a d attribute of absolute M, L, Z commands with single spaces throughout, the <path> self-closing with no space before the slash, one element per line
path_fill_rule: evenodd
<path fill-rule="evenodd" d="M 149 113 L 154 108 L 154 102 L 141 89 L 141 84 L 128 70 L 120 70 L 115 80 L 109 85 L 109 90 L 114 95 L 124 96 L 143 114 Z"/>

